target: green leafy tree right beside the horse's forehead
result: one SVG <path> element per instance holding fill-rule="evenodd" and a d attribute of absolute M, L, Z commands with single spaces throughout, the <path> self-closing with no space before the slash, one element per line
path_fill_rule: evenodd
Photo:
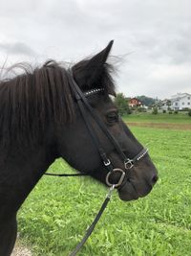
<path fill-rule="evenodd" d="M 127 98 L 125 98 L 123 93 L 117 93 L 115 104 L 117 105 L 118 112 L 121 116 L 131 114 Z"/>

